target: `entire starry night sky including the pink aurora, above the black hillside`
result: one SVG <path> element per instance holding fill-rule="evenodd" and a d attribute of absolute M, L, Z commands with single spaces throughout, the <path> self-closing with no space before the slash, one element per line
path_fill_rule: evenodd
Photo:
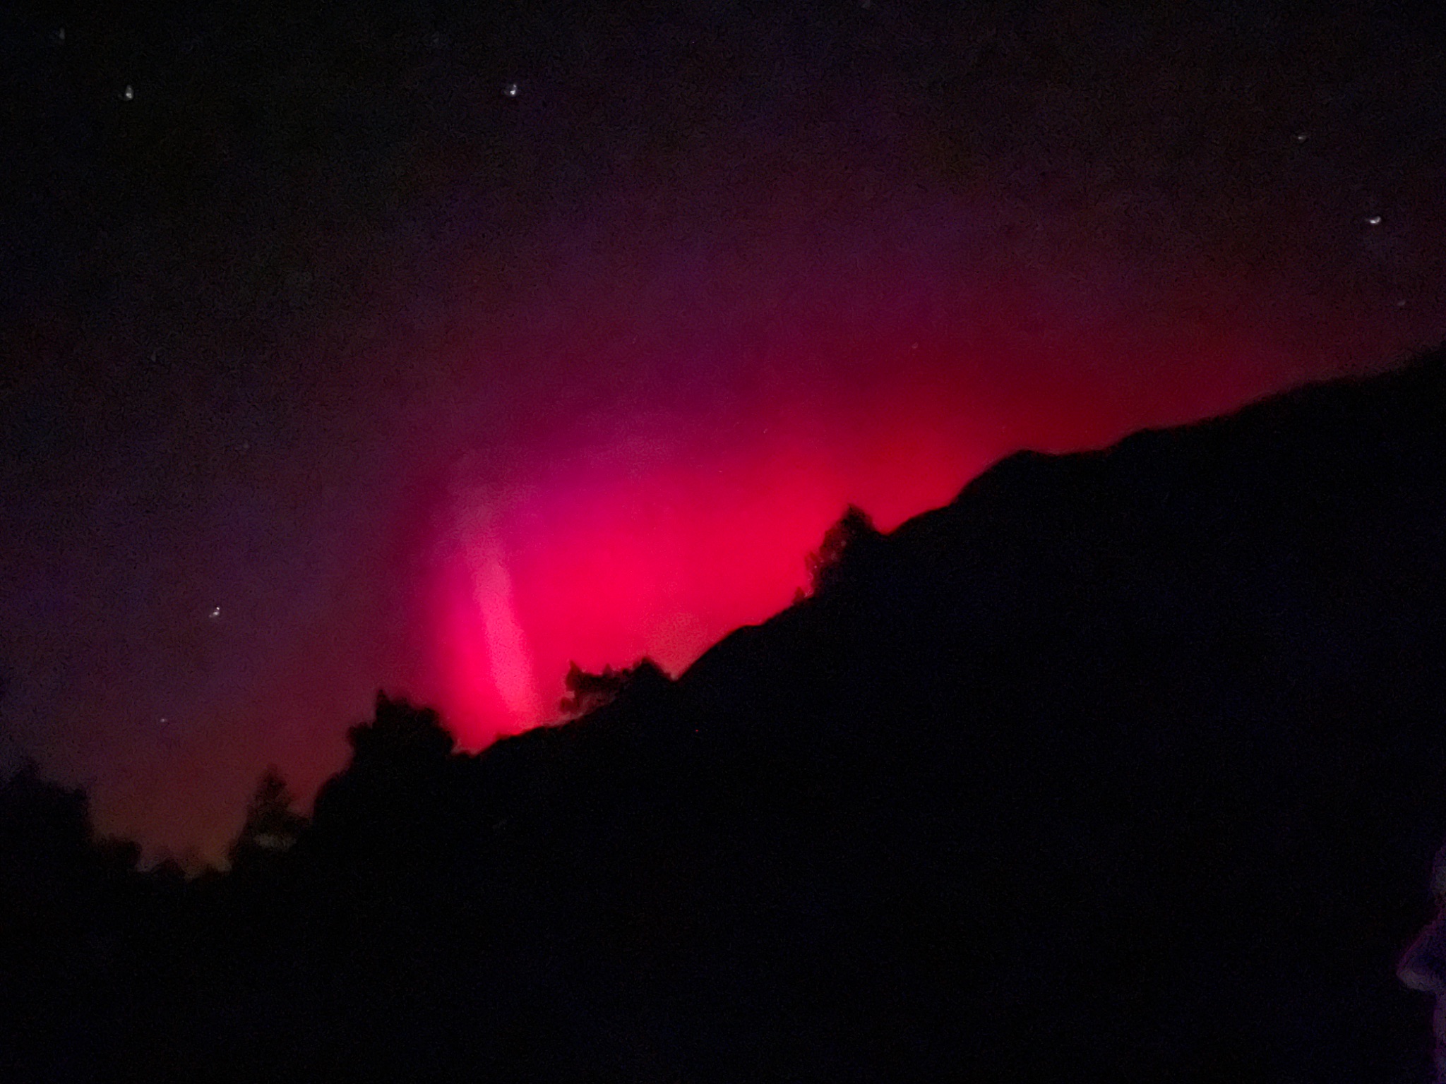
<path fill-rule="evenodd" d="M 1429 16 L 298 7 L 0 12 L 0 767 L 153 848 L 377 688 L 677 674 L 849 502 L 1446 338 Z"/>

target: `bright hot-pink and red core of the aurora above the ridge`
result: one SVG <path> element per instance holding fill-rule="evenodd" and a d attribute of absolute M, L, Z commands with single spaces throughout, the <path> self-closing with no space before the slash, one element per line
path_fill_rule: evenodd
<path fill-rule="evenodd" d="M 869 418 L 800 396 L 726 436 L 706 412 L 643 422 L 646 439 L 623 422 L 508 487 L 458 464 L 421 635 L 438 671 L 428 695 L 463 744 L 555 718 L 570 661 L 646 655 L 680 672 L 788 606 L 847 503 L 891 529 L 947 503 L 1006 439 L 925 384 L 863 393 Z"/>

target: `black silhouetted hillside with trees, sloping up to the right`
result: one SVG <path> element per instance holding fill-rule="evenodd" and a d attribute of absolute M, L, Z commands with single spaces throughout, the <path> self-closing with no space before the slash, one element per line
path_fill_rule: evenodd
<path fill-rule="evenodd" d="M 467 757 L 379 700 L 12 1071 L 1424 1080 L 1443 438 L 1430 357 L 1022 454 L 564 727 Z"/>

